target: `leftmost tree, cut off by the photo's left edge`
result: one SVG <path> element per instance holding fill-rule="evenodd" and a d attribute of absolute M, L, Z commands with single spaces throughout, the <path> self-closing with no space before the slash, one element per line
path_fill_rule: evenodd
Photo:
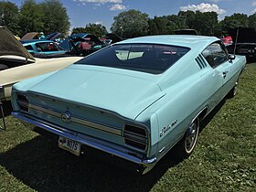
<path fill-rule="evenodd" d="M 8 27 L 13 33 L 18 33 L 18 7 L 11 2 L 0 2 L 0 26 Z"/>

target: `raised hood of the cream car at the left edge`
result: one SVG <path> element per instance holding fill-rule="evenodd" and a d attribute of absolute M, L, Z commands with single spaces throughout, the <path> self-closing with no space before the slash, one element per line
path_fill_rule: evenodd
<path fill-rule="evenodd" d="M 35 60 L 6 27 L 0 27 L 0 37 L 0 57 L 2 59 L 5 59 L 5 56 L 20 56 L 25 58 L 25 61 L 26 59 Z"/>

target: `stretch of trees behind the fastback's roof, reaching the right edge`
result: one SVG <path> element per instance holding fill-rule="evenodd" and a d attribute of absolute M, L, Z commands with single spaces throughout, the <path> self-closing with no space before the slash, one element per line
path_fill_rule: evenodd
<path fill-rule="evenodd" d="M 175 34 L 177 29 L 186 28 L 195 29 L 198 35 L 220 37 L 227 36 L 232 27 L 256 29 L 256 14 L 235 13 L 219 21 L 216 12 L 180 11 L 177 15 L 150 18 L 140 11 L 129 10 L 114 17 L 111 29 L 124 38 Z"/>

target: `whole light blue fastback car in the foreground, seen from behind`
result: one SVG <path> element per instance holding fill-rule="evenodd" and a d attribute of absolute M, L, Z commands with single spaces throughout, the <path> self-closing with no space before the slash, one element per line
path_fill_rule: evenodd
<path fill-rule="evenodd" d="M 132 38 L 16 83 L 13 115 L 75 155 L 90 146 L 146 173 L 174 145 L 178 157 L 192 153 L 201 120 L 235 95 L 245 63 L 217 37 Z"/>

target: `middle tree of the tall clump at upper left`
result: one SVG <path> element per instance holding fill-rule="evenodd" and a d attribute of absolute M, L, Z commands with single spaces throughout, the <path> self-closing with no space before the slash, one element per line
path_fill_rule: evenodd
<path fill-rule="evenodd" d="M 25 0 L 20 8 L 19 26 L 22 28 L 21 35 L 28 32 L 43 31 L 44 22 L 42 17 L 43 11 L 35 0 Z"/>

